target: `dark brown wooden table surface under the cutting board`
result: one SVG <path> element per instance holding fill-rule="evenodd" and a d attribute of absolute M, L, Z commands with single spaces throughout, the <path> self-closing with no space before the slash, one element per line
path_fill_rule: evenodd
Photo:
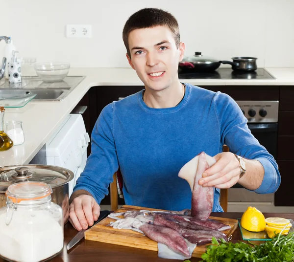
<path fill-rule="evenodd" d="M 223 218 L 241 218 L 243 213 L 212 213 L 212 216 Z M 294 219 L 294 213 L 264 213 L 266 218 L 269 217 L 281 217 Z M 67 223 L 64 228 L 65 235 L 65 248 L 63 252 L 50 260 L 50 262 L 167 262 L 170 260 L 160 259 L 157 256 L 157 252 L 149 251 L 139 248 L 131 248 L 126 246 L 106 244 L 97 241 L 80 240 L 71 250 L 67 251 L 67 243 L 75 236 L 77 231 L 72 227 L 70 223 Z M 234 232 L 231 241 L 241 240 L 241 232 L 239 227 Z M 179 261 L 179 260 L 172 260 Z M 201 259 L 191 258 L 191 262 L 201 261 Z M 0 259 L 0 262 L 4 260 Z"/>

